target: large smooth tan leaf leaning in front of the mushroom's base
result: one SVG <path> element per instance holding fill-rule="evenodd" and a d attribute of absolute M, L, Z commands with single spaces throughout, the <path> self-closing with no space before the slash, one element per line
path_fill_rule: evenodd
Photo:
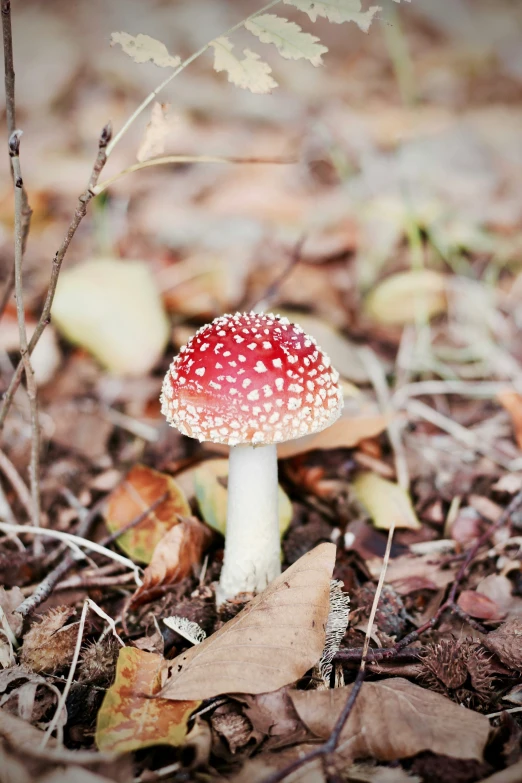
<path fill-rule="evenodd" d="M 335 546 L 320 544 L 197 647 L 165 662 L 167 699 L 266 693 L 319 660 L 330 606 Z"/>

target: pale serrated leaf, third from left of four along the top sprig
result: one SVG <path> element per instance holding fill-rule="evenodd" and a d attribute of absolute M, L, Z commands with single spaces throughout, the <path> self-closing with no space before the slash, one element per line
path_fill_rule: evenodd
<path fill-rule="evenodd" d="M 327 46 L 318 43 L 317 36 L 303 32 L 295 22 L 275 14 L 256 16 L 246 21 L 245 27 L 262 43 L 274 44 L 287 60 L 304 59 L 312 65 L 321 65 L 321 55 L 328 51 Z"/>

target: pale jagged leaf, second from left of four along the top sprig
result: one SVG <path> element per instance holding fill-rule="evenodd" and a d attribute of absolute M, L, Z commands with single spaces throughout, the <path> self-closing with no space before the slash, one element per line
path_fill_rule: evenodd
<path fill-rule="evenodd" d="M 232 52 L 233 44 L 224 36 L 211 41 L 210 45 L 214 49 L 214 70 L 226 71 L 232 84 L 258 94 L 277 87 L 277 82 L 270 76 L 272 69 L 255 52 L 244 49 L 245 56 L 239 59 Z"/>

